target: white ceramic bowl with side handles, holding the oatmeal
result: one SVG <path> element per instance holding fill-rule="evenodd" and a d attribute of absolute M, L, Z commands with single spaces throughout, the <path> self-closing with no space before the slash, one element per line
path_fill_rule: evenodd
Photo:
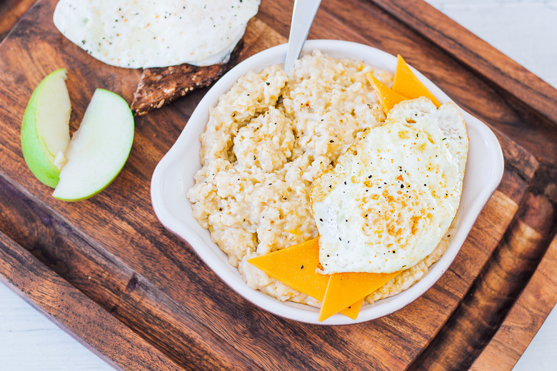
<path fill-rule="evenodd" d="M 313 49 L 318 49 L 334 58 L 363 60 L 372 66 L 392 72 L 396 67 L 395 56 L 362 44 L 333 40 L 307 41 L 304 50 Z M 209 231 L 201 228 L 191 215 L 191 203 L 186 198 L 186 191 L 194 185 L 194 174 L 201 168 L 199 135 L 209 121 L 209 108 L 216 106 L 219 96 L 229 91 L 240 76 L 250 70 L 259 72 L 271 64 L 283 63 L 285 56 L 286 44 L 261 51 L 232 68 L 206 93 L 191 114 L 174 146 L 156 166 L 151 180 L 151 200 L 156 216 L 166 228 L 189 243 L 199 257 L 236 293 L 264 310 L 291 320 L 323 325 L 346 325 L 388 315 L 412 303 L 425 293 L 451 265 L 483 206 L 501 181 L 503 176 L 501 146 L 496 136 L 484 123 L 463 111 L 470 138 L 468 163 L 466 163 L 461 204 L 456 215 L 456 233 L 451 236 L 451 243 L 446 253 L 431 266 L 428 274 L 418 283 L 398 295 L 363 307 L 356 320 L 351 320 L 344 315 L 333 315 L 323 322 L 318 322 L 318 308 L 291 302 L 283 303 L 249 288 L 241 279 L 238 270 L 229 265 L 226 254 L 211 241 Z M 421 73 L 413 71 L 441 103 L 451 101 L 451 98 Z"/>

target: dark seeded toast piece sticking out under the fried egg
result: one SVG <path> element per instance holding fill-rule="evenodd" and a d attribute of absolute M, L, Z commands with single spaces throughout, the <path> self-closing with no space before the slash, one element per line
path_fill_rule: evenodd
<path fill-rule="evenodd" d="M 236 64 L 243 48 L 244 40 L 240 40 L 227 63 L 203 67 L 184 63 L 179 66 L 145 68 L 134 93 L 134 101 L 131 102 L 131 110 L 135 116 L 141 116 L 189 91 L 211 85 Z"/>

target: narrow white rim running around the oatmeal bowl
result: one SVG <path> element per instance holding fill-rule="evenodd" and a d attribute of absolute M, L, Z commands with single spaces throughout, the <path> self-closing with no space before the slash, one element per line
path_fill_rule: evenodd
<path fill-rule="evenodd" d="M 181 174 L 175 174 L 177 178 L 175 176 L 174 178 L 171 178 L 171 181 L 167 181 L 165 177 L 168 172 L 171 173 L 174 161 L 179 161 L 181 159 L 179 156 L 181 156 L 181 152 L 184 151 L 184 144 L 191 141 L 191 136 L 196 133 L 196 130 L 199 131 L 199 126 L 202 126 L 201 132 L 204 131 L 207 121 L 204 120 L 201 125 L 200 120 L 209 115 L 209 108 L 217 103 L 218 98 L 222 93 L 229 91 L 229 88 L 240 76 L 244 76 L 251 70 L 259 72 L 266 66 L 276 64 L 277 61 L 278 63 L 282 63 L 284 56 L 286 56 L 286 46 L 287 44 L 281 44 L 254 54 L 254 56 L 250 56 L 248 59 L 242 61 L 222 76 L 219 81 L 217 81 L 214 86 L 209 89 L 196 106 L 194 112 L 191 114 L 187 125 L 184 127 L 184 130 L 181 132 L 179 138 L 176 139 L 174 145 L 156 166 L 151 178 L 151 203 L 157 218 L 159 218 L 165 228 L 177 235 L 181 238 L 181 240 L 188 243 L 197 255 L 199 255 L 201 260 L 204 260 L 204 262 L 209 265 L 209 268 L 211 268 L 211 270 L 213 270 L 213 272 L 216 273 L 216 275 L 218 275 L 219 278 L 226 283 L 226 285 L 229 285 L 229 287 L 236 291 L 236 293 L 239 293 L 246 300 L 249 300 L 259 308 L 290 320 L 307 322 L 316 325 L 350 325 L 383 317 L 395 312 L 396 310 L 406 307 L 406 305 L 412 303 L 414 300 L 423 295 L 423 293 L 426 293 L 426 291 L 431 288 L 439 278 L 441 278 L 441 275 L 448 270 L 454 258 L 456 258 L 458 251 L 461 249 L 468 233 L 473 227 L 473 224 L 476 222 L 481 210 L 486 205 L 489 198 L 491 198 L 491 195 L 495 192 L 498 184 L 501 182 L 504 169 L 501 145 L 499 144 L 496 136 L 493 134 L 493 131 L 491 131 L 485 123 L 481 122 L 478 118 L 472 116 L 470 113 L 459 107 L 463 113 L 464 120 L 466 121 L 468 136 L 471 136 L 468 129 L 473 128 L 474 138 L 479 136 L 479 138 L 483 141 L 482 148 L 485 148 L 485 150 L 488 151 L 488 158 L 491 161 L 485 161 L 485 163 L 491 164 L 491 168 L 488 173 L 483 174 L 483 188 L 481 189 L 481 193 L 476 195 L 476 198 L 474 198 L 471 204 L 466 207 L 466 210 L 462 210 L 463 202 L 461 199 L 461 205 L 459 206 L 456 215 L 456 218 L 462 218 L 462 220 L 458 220 L 461 225 L 451 236 L 446 252 L 443 253 L 441 258 L 436 263 L 429 267 L 428 273 L 426 273 L 421 280 L 418 280 L 418 282 L 411 285 L 410 288 L 403 290 L 403 292 L 398 293 L 397 295 L 393 295 L 391 298 L 378 300 L 373 305 L 366 305 L 362 308 L 356 320 L 351 320 L 346 316 L 337 314 L 329 317 L 323 322 L 318 322 L 318 308 L 311 307 L 311 305 L 281 302 L 275 298 L 271 298 L 270 296 L 259 292 L 259 290 L 249 288 L 249 286 L 239 277 L 237 269 L 229 265 L 227 261 L 225 263 L 229 265 L 228 269 L 226 269 L 226 267 L 223 268 L 221 266 L 221 262 L 217 261 L 222 260 L 222 257 L 219 257 L 214 250 L 211 250 L 214 249 L 214 247 L 207 245 L 206 239 L 201 236 L 203 233 L 198 233 L 196 231 L 196 229 L 199 230 L 201 226 L 197 223 L 196 225 L 199 228 L 196 228 L 195 225 L 184 225 L 184 223 L 172 214 L 171 208 L 169 208 L 169 204 L 167 203 L 168 200 L 165 198 L 167 187 L 176 186 L 176 184 L 184 182 L 184 179 L 181 178 Z M 351 41 L 306 41 L 303 51 L 307 52 L 314 49 L 320 50 L 323 54 L 330 54 L 335 58 L 345 55 L 343 58 L 366 61 L 366 63 L 370 63 L 372 66 L 387 69 L 391 72 L 394 71 L 394 66 L 396 66 L 396 56 L 392 56 L 391 54 L 387 54 L 385 51 L 375 49 L 371 46 Z M 377 60 L 374 61 L 373 59 Z M 429 81 L 428 78 L 423 76 L 415 68 L 411 67 L 411 69 L 414 73 L 416 73 L 416 76 L 418 76 L 424 85 L 426 85 L 426 87 L 436 96 L 436 98 L 441 101 L 441 103 L 452 101 L 446 93 L 441 91 L 441 89 Z M 199 141 L 197 138 L 198 136 L 195 137 L 195 140 Z M 470 149 L 468 149 L 468 162 L 470 161 L 470 158 Z M 199 162 L 199 154 L 196 161 Z M 199 166 L 196 164 L 196 171 L 199 168 L 201 168 L 200 162 Z M 468 163 L 466 164 L 466 173 L 469 173 Z M 467 180 L 466 173 L 463 193 Z M 184 198 L 186 198 L 185 191 Z M 187 200 L 187 202 L 189 203 L 189 200 Z M 191 209 L 186 211 L 186 213 L 187 212 L 191 213 Z M 207 231 L 207 233 L 209 232 Z M 215 243 L 213 243 L 213 245 L 216 246 Z M 224 253 L 222 254 L 224 255 Z M 236 270 L 236 273 L 233 270 Z M 239 280 L 241 282 L 239 282 Z"/>

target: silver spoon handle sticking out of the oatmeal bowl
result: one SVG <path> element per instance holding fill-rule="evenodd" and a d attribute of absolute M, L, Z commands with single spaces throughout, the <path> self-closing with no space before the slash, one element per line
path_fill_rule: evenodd
<path fill-rule="evenodd" d="M 317 13 L 321 0 L 295 0 L 292 12 L 292 23 L 288 35 L 288 51 L 284 61 L 284 71 L 288 73 L 294 62 L 300 57 L 303 43 L 309 34 L 309 29 Z"/>

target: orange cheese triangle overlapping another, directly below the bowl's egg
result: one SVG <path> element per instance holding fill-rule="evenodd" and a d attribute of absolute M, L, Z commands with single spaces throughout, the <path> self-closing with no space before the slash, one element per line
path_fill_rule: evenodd
<path fill-rule="evenodd" d="M 366 298 L 399 275 L 394 273 L 334 273 L 328 281 L 319 321 L 326 320 L 346 308 L 349 303 Z"/>

